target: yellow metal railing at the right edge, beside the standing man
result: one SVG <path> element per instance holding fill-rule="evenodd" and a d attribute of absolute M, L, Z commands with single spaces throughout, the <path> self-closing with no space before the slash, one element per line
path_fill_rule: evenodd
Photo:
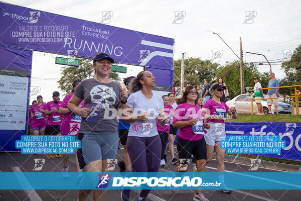
<path fill-rule="evenodd" d="M 297 86 L 301 86 L 301 84 L 299 85 L 291 85 L 291 86 L 278 86 L 278 87 L 269 87 L 269 88 L 259 88 L 259 89 L 251 89 L 251 107 L 252 107 L 252 115 L 254 115 L 254 112 L 253 112 L 253 99 L 276 99 L 276 98 L 292 98 L 292 102 L 291 102 L 291 105 L 292 105 L 292 114 L 294 114 L 294 106 L 293 104 L 295 104 L 295 110 L 296 110 L 296 114 L 299 115 L 299 110 L 298 110 L 298 104 L 301 103 L 301 102 L 298 102 L 298 95 L 299 93 L 296 92 L 296 87 Z M 289 87 L 294 87 L 294 93 L 292 93 L 291 95 L 292 96 L 286 96 L 286 97 L 269 97 L 269 98 L 253 98 L 253 91 L 256 91 L 256 90 L 264 90 L 264 89 L 271 89 L 271 88 L 289 88 Z"/>

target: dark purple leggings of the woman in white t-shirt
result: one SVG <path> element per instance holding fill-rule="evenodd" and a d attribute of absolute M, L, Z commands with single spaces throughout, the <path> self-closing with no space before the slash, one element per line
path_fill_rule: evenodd
<path fill-rule="evenodd" d="M 153 137 L 127 136 L 126 147 L 133 172 L 158 172 L 161 159 L 161 139 Z M 140 196 L 146 197 L 148 190 L 141 190 Z"/>

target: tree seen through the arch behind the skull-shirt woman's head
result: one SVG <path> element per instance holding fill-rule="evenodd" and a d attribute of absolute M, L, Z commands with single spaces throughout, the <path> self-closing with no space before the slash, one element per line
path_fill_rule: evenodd
<path fill-rule="evenodd" d="M 92 59 L 77 58 L 79 59 L 79 67 L 77 66 L 63 66 L 61 68 L 61 78 L 58 81 L 59 88 L 65 92 L 65 95 L 71 93 L 72 82 L 76 79 L 89 79 L 94 77 L 94 69 L 92 68 Z M 120 82 L 121 78 L 118 73 L 111 72 L 109 78 Z"/>

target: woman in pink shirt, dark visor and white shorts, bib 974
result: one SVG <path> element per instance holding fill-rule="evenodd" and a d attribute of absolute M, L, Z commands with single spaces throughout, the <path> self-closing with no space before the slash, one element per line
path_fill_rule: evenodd
<path fill-rule="evenodd" d="M 210 129 L 207 130 L 207 134 L 204 135 L 207 144 L 207 163 L 212 160 L 213 153 L 215 150 L 216 160 L 217 160 L 217 171 L 221 172 L 218 175 L 218 180 L 224 186 L 224 189 L 219 189 L 219 191 L 230 193 L 231 190 L 226 189 L 224 185 L 224 156 L 225 149 L 220 148 L 220 141 L 226 139 L 225 134 L 225 120 L 226 113 L 230 115 L 233 119 L 237 118 L 237 114 L 234 107 L 229 108 L 225 103 L 221 102 L 224 90 L 227 89 L 221 83 L 212 84 L 210 93 L 213 93 L 213 98 L 207 100 L 203 105 L 203 114 L 205 114 L 206 123 L 210 124 Z"/>

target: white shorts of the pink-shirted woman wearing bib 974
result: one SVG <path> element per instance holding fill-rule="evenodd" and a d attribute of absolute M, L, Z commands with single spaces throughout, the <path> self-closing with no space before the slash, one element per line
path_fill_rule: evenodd
<path fill-rule="evenodd" d="M 214 146 L 215 142 L 226 140 L 225 123 L 208 123 L 210 124 L 210 129 L 206 129 L 207 133 L 204 135 L 206 144 Z"/>

